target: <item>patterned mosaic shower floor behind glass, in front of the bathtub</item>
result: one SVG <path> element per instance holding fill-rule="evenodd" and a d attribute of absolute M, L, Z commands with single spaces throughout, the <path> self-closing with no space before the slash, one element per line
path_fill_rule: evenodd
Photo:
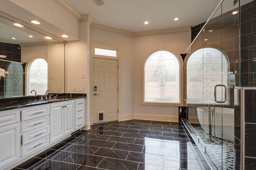
<path fill-rule="evenodd" d="M 218 169 L 233 170 L 234 143 L 215 137 L 212 137 L 212 141 L 210 141 L 209 135 L 204 132 L 200 125 L 192 125 L 192 127 L 204 141 L 206 152 L 212 158 Z"/>

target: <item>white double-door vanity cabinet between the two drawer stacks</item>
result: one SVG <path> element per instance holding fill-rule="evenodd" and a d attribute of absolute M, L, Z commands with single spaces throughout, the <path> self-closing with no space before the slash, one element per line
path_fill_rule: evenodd
<path fill-rule="evenodd" d="M 50 142 L 74 131 L 75 102 L 57 102 L 50 106 Z"/>

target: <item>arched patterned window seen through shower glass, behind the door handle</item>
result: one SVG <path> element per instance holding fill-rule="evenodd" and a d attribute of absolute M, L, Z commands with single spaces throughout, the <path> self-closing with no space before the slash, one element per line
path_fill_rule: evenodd
<path fill-rule="evenodd" d="M 187 62 L 187 103 L 216 104 L 214 101 L 214 87 L 221 85 L 216 90 L 218 101 L 228 103 L 228 58 L 220 49 L 204 47 L 190 55 Z M 226 86 L 225 88 L 222 88 Z M 223 96 L 226 90 L 226 96 Z"/>

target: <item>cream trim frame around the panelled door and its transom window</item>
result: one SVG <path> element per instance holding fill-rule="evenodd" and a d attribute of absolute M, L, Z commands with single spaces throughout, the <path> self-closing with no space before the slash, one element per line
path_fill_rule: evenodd
<path fill-rule="evenodd" d="M 117 57 L 108 57 L 108 56 L 102 56 L 102 55 L 95 55 L 94 54 L 94 48 L 103 48 L 103 49 L 112 49 L 117 51 Z M 101 58 L 101 59 L 112 59 L 112 60 L 118 60 L 118 121 L 122 120 L 122 108 L 121 108 L 121 47 L 118 45 L 110 45 L 105 43 L 98 43 L 90 41 L 90 86 L 88 88 L 88 98 L 89 100 L 89 109 L 90 109 L 90 125 L 93 125 L 93 94 L 94 94 L 94 88 L 93 88 L 93 68 L 94 58 Z"/>

